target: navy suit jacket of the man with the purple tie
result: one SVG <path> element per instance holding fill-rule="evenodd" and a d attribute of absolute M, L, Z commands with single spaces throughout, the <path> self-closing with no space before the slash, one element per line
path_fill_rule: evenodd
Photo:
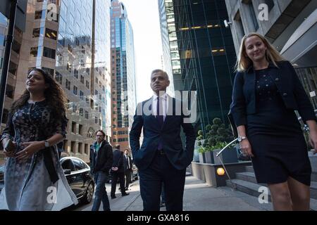
<path fill-rule="evenodd" d="M 175 98 L 173 105 L 176 105 Z M 150 101 L 150 102 L 149 102 Z M 138 104 L 138 108 L 149 105 L 151 110 L 152 98 Z M 181 104 L 178 102 L 178 104 Z M 168 109 L 170 111 L 170 108 Z M 147 115 L 142 110 L 142 115 L 135 114 L 132 129 L 130 131 L 130 146 L 132 149 L 133 161 L 138 169 L 146 169 L 151 164 L 156 154 L 159 141 L 163 143 L 163 151 L 170 163 L 176 169 L 185 169 L 191 162 L 194 155 L 194 142 L 196 140 L 196 132 L 190 123 L 184 123 L 185 115 L 175 115 L 175 107 L 173 107 L 173 115 L 166 115 L 163 127 L 159 127 L 159 122 L 154 115 Z M 182 147 L 180 139 L 180 129 L 183 128 L 186 136 L 185 149 Z M 139 137 L 143 128 L 143 143 L 140 147 Z"/>

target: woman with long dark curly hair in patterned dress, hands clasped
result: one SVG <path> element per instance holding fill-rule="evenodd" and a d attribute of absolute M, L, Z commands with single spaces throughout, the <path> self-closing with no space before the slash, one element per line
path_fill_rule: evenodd
<path fill-rule="evenodd" d="M 47 72 L 32 69 L 26 90 L 10 110 L 2 134 L 7 157 L 1 210 L 61 210 L 77 204 L 63 174 L 56 144 L 66 137 L 66 98 Z"/>

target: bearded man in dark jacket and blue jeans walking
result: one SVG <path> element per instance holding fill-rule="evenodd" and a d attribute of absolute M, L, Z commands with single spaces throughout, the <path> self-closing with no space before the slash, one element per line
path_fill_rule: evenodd
<path fill-rule="evenodd" d="M 94 174 L 96 190 L 94 191 L 94 205 L 92 211 L 98 211 L 101 201 L 104 211 L 110 211 L 110 204 L 106 192 L 106 180 L 112 165 L 112 147 L 104 140 L 104 131 L 97 131 L 97 141 L 90 148 L 90 171 Z"/>

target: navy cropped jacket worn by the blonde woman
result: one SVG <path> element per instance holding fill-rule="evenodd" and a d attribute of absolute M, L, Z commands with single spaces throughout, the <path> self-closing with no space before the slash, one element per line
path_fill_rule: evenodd
<path fill-rule="evenodd" d="M 278 67 L 275 67 L 273 63 L 269 63 L 268 66 L 273 68 L 273 73 L 270 76 L 278 88 L 285 107 L 298 110 L 304 122 L 316 120 L 313 106 L 292 64 L 288 61 L 280 61 L 277 65 Z M 256 113 L 255 79 L 253 67 L 245 72 L 237 72 L 235 75 L 230 111 L 237 127 L 246 125 L 247 115 Z"/>

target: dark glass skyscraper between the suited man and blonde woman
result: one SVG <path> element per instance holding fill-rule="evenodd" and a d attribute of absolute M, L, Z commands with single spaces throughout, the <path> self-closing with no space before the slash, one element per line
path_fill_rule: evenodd
<path fill-rule="evenodd" d="M 224 0 L 159 0 L 165 68 L 175 90 L 197 92 L 197 123 L 203 129 L 214 117 L 228 122 L 235 46 Z M 170 69 L 168 69 L 170 68 Z"/>

